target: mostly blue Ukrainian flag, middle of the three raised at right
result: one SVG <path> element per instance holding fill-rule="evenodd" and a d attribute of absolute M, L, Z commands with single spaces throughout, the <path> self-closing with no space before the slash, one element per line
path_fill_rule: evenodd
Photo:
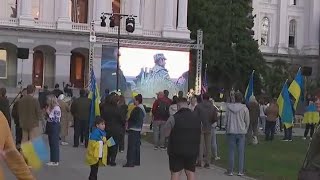
<path fill-rule="evenodd" d="M 286 128 L 293 126 L 293 110 L 290 101 L 287 81 L 283 85 L 282 91 L 278 97 L 277 104 L 279 106 L 279 116 Z"/>

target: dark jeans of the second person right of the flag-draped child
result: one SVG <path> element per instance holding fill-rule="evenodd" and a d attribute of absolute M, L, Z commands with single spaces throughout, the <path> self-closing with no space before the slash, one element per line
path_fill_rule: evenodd
<path fill-rule="evenodd" d="M 128 131 L 127 165 L 140 166 L 140 131 Z"/>

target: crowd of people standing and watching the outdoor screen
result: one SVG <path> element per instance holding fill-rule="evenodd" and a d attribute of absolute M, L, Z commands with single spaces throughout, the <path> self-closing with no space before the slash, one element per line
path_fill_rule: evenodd
<path fill-rule="evenodd" d="M 6 89 L 0 89 L 0 111 L 3 113 L 0 114 L 0 122 L 3 124 L 2 121 L 6 119 L 6 126 L 10 130 L 12 117 L 16 129 L 17 149 L 12 148 L 13 140 L 10 136 L 10 146 L 5 146 L 6 152 L 18 152 L 16 150 L 20 150 L 22 143 L 32 141 L 43 132 L 48 135 L 50 147 L 50 162 L 47 165 L 59 166 L 60 145 L 68 145 L 66 137 L 71 126 L 74 128 L 73 147 L 78 148 L 82 144 L 87 148 L 86 161 L 91 167 L 89 180 L 97 179 L 99 166 L 117 165 L 118 152 L 123 153 L 125 150 L 126 134 L 127 162 L 123 167 L 140 166 L 141 132 L 147 117 L 141 94 L 133 93 L 127 103 L 124 96 L 106 90 L 100 103 L 101 116 L 96 117 L 91 125 L 91 100 L 87 90 L 81 89 L 80 97 L 71 98 L 70 89 L 62 91 L 56 85 L 53 91 L 49 91 L 45 86 L 38 99 L 34 97 L 35 90 L 33 85 L 23 89 L 12 103 L 10 112 Z M 210 164 L 220 159 L 216 135 L 219 108 L 207 93 L 185 98 L 183 92 L 179 92 L 172 99 L 169 95 L 168 90 L 158 92 L 152 105 L 150 128 L 153 129 L 154 150 L 168 153 L 172 180 L 178 180 L 183 170 L 188 180 L 193 180 L 196 167 L 209 168 Z M 310 99 L 307 109 L 307 112 L 318 111 L 315 99 Z M 42 126 L 41 122 L 45 122 L 45 125 Z M 319 130 L 316 130 L 319 113 L 305 115 L 303 122 L 306 123 L 303 139 L 307 138 L 309 131 L 310 140 L 319 136 Z M 241 92 L 235 92 L 233 102 L 227 104 L 225 113 L 229 150 L 227 175 L 234 175 L 235 151 L 238 151 L 237 175 L 243 176 L 246 144 L 259 144 L 259 127 L 265 133 L 265 141 L 272 141 L 277 126 L 281 127 L 281 119 L 276 100 L 259 103 L 252 96 L 248 102 L 244 102 Z M 292 128 L 284 127 L 284 131 L 283 140 L 292 141 Z M 1 133 L 7 133 L 7 130 L 1 130 Z M 112 145 L 108 142 L 110 139 L 114 141 Z M 0 138 L 2 149 L 5 142 Z M 314 143 L 313 146 L 317 147 Z M 313 156 L 319 156 L 317 150 L 311 152 L 314 152 Z M 26 159 L 25 162 L 19 158 L 18 162 L 28 164 Z M 313 159 L 309 157 L 309 160 Z M 27 170 L 23 172 L 26 177 L 32 177 Z"/>

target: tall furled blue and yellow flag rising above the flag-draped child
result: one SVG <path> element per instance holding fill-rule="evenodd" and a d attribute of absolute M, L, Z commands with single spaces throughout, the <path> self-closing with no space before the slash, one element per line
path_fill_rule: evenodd
<path fill-rule="evenodd" d="M 93 126 L 93 123 L 96 117 L 100 116 L 100 94 L 99 88 L 97 86 L 96 77 L 94 75 L 93 68 L 90 72 L 90 84 L 89 84 L 89 98 L 91 99 L 90 106 L 90 127 Z"/>

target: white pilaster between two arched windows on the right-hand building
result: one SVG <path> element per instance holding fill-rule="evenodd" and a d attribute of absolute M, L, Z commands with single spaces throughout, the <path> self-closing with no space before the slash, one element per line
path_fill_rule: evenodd
<path fill-rule="evenodd" d="M 278 36 L 278 53 L 288 53 L 288 0 L 279 1 L 279 36 Z"/>

